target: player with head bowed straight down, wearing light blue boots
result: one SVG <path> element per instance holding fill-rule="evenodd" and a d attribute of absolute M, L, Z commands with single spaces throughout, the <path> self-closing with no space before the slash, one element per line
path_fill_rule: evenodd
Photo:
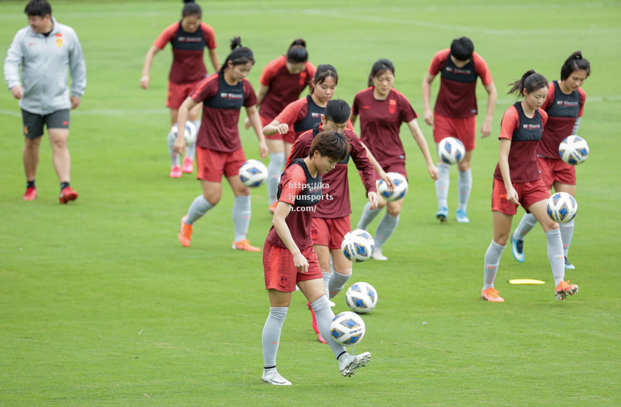
<path fill-rule="evenodd" d="M 441 73 L 440 73 L 441 72 Z M 440 73 L 440 91 L 435 102 L 433 115 L 429 107 L 431 83 Z M 464 144 L 466 154 L 458 164 L 460 176 L 457 181 L 459 205 L 456 218 L 458 222 L 468 223 L 468 199 L 472 189 L 470 160 L 476 139 L 476 78 L 480 77 L 487 91 L 487 113 L 481 126 L 481 136 L 489 136 L 492 130 L 492 117 L 496 107 L 497 92 L 487 64 L 476 52 L 470 38 L 453 40 L 451 48 L 438 51 L 433 57 L 427 74 L 423 79 L 423 105 L 425 123 L 433 126 L 433 140 L 436 146 L 445 137 L 455 137 Z M 448 218 L 448 186 L 450 165 L 438 161 L 438 179 L 435 192 L 438 197 L 440 221 Z"/>

